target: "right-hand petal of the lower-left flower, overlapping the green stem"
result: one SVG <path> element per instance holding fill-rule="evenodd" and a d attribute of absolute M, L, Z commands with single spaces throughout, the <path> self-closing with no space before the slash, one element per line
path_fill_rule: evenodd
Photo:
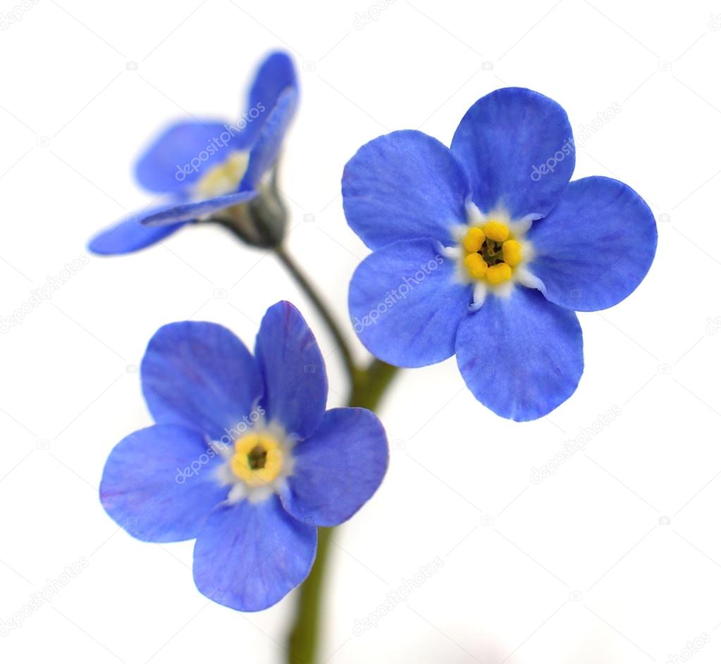
<path fill-rule="evenodd" d="M 334 408 L 320 428 L 293 448 L 293 475 L 281 499 L 296 519 L 337 526 L 350 519 L 381 485 L 388 441 L 365 408 Z"/>

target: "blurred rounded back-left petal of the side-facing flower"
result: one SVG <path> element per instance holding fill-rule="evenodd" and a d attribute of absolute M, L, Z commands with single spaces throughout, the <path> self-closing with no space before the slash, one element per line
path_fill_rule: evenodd
<path fill-rule="evenodd" d="M 183 192 L 211 166 L 242 147 L 240 133 L 224 122 L 178 122 L 162 133 L 136 165 L 138 182 L 151 192 Z"/>

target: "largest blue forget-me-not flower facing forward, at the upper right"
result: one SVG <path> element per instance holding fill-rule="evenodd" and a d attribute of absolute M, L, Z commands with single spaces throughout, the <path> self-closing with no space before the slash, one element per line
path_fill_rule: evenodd
<path fill-rule="evenodd" d="M 456 354 L 474 396 L 518 421 L 578 386 L 575 311 L 627 297 L 656 248 L 652 212 L 614 179 L 569 184 L 565 111 L 522 88 L 466 112 L 446 148 L 419 131 L 363 145 L 343 174 L 348 224 L 373 250 L 350 283 L 363 344 L 399 367 Z"/>

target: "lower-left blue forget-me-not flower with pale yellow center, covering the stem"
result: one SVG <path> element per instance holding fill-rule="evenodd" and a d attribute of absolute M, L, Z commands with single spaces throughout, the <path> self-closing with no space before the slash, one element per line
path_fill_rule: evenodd
<path fill-rule="evenodd" d="M 226 328 L 171 323 L 141 365 L 156 424 L 112 450 L 107 513 L 147 542 L 193 539 L 193 577 L 239 611 L 275 604 L 308 575 L 317 526 L 350 519 L 388 463 L 381 423 L 325 409 L 318 344 L 289 302 L 262 320 L 255 357 Z"/>

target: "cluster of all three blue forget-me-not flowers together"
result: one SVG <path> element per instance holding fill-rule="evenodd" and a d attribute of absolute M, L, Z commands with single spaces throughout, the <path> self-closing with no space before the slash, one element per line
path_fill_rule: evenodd
<path fill-rule="evenodd" d="M 275 169 L 297 99 L 290 58 L 273 53 L 238 122 L 169 127 L 136 169 L 162 202 L 99 233 L 91 250 L 125 254 L 212 221 L 280 253 Z M 575 312 L 627 297 L 657 241 L 638 194 L 606 177 L 571 182 L 574 166 L 565 111 L 520 88 L 473 104 L 450 148 L 419 131 L 363 145 L 342 176 L 348 224 L 372 251 L 349 308 L 383 362 L 363 371 L 348 360 L 353 386 L 360 375 L 367 389 L 384 362 L 455 355 L 469 390 L 504 418 L 532 420 L 565 401 L 583 373 Z M 350 519 L 386 472 L 378 418 L 326 410 L 322 354 L 289 302 L 267 310 L 255 354 L 213 323 L 160 328 L 141 382 L 155 424 L 110 453 L 102 504 L 138 539 L 195 539 L 195 583 L 219 604 L 258 611 L 283 598 L 309 575 L 317 528 Z"/>

